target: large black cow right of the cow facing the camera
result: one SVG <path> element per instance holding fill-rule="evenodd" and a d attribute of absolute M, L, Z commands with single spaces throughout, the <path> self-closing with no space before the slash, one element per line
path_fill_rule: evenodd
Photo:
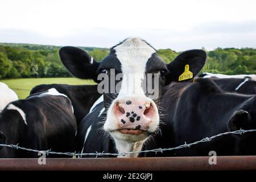
<path fill-rule="evenodd" d="M 171 82 L 162 98 L 166 115 L 161 135 L 144 149 L 176 147 L 227 131 L 256 129 L 255 106 L 255 95 L 223 92 L 209 78 L 197 78 L 194 83 Z M 255 155 L 255 137 L 256 133 L 225 135 L 156 156 L 208 156 L 209 151 L 218 156 Z"/>

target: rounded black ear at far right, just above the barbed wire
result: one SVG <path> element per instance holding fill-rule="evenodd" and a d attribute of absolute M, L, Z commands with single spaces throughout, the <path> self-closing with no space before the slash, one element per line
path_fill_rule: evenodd
<path fill-rule="evenodd" d="M 251 115 L 245 110 L 236 111 L 228 122 L 228 131 L 236 131 L 240 129 L 249 129 L 251 123 Z"/>

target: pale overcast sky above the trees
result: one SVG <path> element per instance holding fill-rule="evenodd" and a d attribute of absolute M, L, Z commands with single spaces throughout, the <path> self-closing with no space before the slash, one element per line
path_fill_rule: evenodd
<path fill-rule="evenodd" d="M 255 0 L 0 0 L 0 42 L 111 47 L 139 36 L 176 51 L 256 47 Z"/>

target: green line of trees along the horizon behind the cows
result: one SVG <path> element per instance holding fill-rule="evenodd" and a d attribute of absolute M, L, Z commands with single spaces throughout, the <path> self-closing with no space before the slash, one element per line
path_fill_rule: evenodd
<path fill-rule="evenodd" d="M 58 46 L 36 44 L 0 44 L 0 78 L 30 77 L 71 77 L 59 58 Z M 102 60 L 109 49 L 80 47 Z M 206 50 L 205 50 L 206 51 Z M 159 49 L 158 54 L 170 63 L 180 52 Z M 202 72 L 224 73 L 227 75 L 256 74 L 256 49 L 216 48 L 207 51 L 207 62 Z"/>

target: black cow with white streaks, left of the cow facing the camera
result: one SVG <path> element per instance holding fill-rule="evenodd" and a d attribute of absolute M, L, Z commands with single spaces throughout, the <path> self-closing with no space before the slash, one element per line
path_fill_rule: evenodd
<path fill-rule="evenodd" d="M 0 143 L 39 151 L 74 152 L 77 124 L 67 96 L 49 89 L 13 101 L 0 114 Z M 0 158 L 38 158 L 36 152 L 0 146 Z M 52 155 L 49 157 L 67 157 Z"/>

